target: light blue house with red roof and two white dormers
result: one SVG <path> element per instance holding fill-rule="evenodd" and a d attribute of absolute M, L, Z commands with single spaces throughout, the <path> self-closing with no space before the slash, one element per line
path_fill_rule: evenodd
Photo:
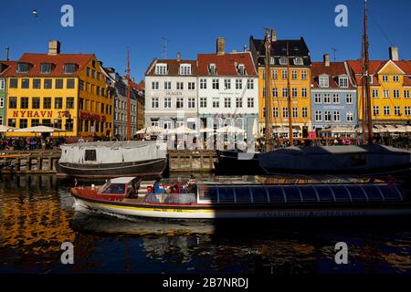
<path fill-rule="evenodd" d="M 311 66 L 311 131 L 333 127 L 354 129 L 357 125 L 357 89 L 345 62 L 323 62 Z"/>

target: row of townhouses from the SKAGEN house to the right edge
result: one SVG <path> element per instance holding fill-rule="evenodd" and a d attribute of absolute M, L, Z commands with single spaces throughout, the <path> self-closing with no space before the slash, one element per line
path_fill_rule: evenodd
<path fill-rule="evenodd" d="M 154 58 L 145 73 L 145 124 L 163 128 L 181 125 L 217 129 L 233 125 L 259 133 L 265 128 L 266 52 L 263 39 L 249 38 L 249 49 L 227 53 L 224 37 L 216 53 L 195 60 Z M 304 39 L 271 36 L 269 60 L 271 127 L 288 136 L 292 115 L 295 137 L 332 127 L 357 127 L 362 120 L 363 72 L 361 60 L 311 62 Z M 288 64 L 290 63 L 290 64 Z M 288 92 L 290 74 L 290 93 Z M 375 123 L 409 124 L 411 119 L 411 61 L 390 58 L 371 61 L 373 119 Z M 291 97 L 289 113 L 288 97 Z M 277 131 L 277 132 L 276 132 Z"/>

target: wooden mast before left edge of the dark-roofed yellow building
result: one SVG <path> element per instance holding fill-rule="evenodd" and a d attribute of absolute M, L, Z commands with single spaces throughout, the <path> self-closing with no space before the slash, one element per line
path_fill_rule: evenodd
<path fill-rule="evenodd" d="M 269 28 L 266 28 L 266 96 L 265 96 L 265 107 L 266 107 L 266 142 L 265 151 L 271 151 L 271 81 L 270 81 L 270 69 L 269 60 L 271 59 L 271 37 L 269 36 Z"/>

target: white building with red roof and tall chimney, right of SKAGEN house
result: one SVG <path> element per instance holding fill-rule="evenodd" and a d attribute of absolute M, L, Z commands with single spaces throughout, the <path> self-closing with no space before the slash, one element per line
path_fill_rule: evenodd
<path fill-rule="evenodd" d="M 225 39 L 219 37 L 216 54 L 199 54 L 197 61 L 203 127 L 258 130 L 258 75 L 251 53 L 226 53 Z"/>

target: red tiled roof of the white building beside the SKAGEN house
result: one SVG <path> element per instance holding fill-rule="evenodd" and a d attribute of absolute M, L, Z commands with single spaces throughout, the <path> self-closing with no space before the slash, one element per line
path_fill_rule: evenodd
<path fill-rule="evenodd" d="M 216 76 L 242 76 L 238 74 L 237 66 L 242 64 L 246 69 L 246 76 L 257 76 L 250 52 L 218 54 L 198 54 L 198 75 L 210 76 L 210 64 L 216 65 Z"/>

